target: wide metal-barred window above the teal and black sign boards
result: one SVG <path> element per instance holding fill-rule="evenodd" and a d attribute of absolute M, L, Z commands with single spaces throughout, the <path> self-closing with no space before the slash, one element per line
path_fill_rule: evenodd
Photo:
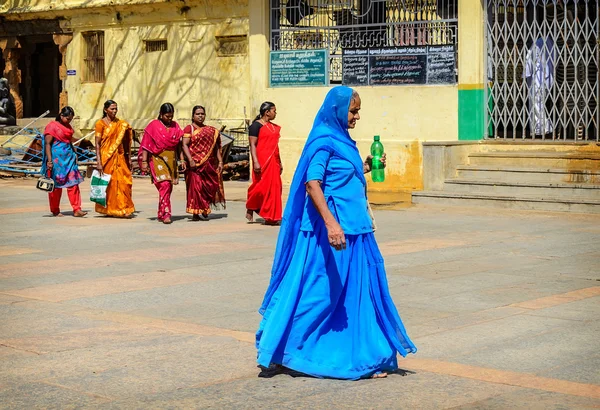
<path fill-rule="evenodd" d="M 270 5 L 271 50 L 329 50 L 333 84 L 341 83 L 345 48 L 457 45 L 457 0 L 270 0 Z"/>

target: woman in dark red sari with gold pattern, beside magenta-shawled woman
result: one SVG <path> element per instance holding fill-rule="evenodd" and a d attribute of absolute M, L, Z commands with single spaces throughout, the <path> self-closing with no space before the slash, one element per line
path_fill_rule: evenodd
<path fill-rule="evenodd" d="M 193 221 L 199 221 L 200 215 L 207 219 L 211 207 L 225 208 L 221 136 L 215 128 L 204 125 L 205 119 L 206 110 L 196 105 L 192 123 L 183 129 L 183 152 L 188 160 L 186 211 L 193 215 Z"/>

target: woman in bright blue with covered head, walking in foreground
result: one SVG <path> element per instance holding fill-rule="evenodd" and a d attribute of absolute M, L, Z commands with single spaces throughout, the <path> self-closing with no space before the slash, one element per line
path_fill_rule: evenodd
<path fill-rule="evenodd" d="M 315 377 L 385 377 L 417 351 L 389 293 L 363 162 L 350 137 L 360 97 L 335 87 L 313 124 L 283 216 L 259 312 L 258 364 Z"/>

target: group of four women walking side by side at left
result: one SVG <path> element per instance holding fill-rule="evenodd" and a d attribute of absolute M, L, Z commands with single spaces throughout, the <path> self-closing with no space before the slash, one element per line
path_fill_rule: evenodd
<path fill-rule="evenodd" d="M 119 218 L 131 218 L 135 212 L 132 199 L 131 146 L 134 132 L 131 126 L 117 117 L 118 105 L 113 100 L 104 103 L 103 117 L 95 124 L 96 169 L 109 174 L 106 188 L 106 206 L 96 204 L 96 212 Z M 197 221 L 207 219 L 211 208 L 225 206 L 223 190 L 223 158 L 219 132 L 204 124 L 206 111 L 202 106 L 192 110 L 191 124 L 183 130 L 173 121 L 175 108 L 170 103 L 160 107 L 159 116 L 144 129 L 140 143 L 138 164 L 143 173 L 149 173 L 159 194 L 157 219 L 170 224 L 171 192 L 179 182 L 179 173 L 185 174 L 187 212 Z M 81 210 L 79 184 L 83 181 L 77 166 L 77 155 L 72 145 L 75 115 L 71 107 L 64 107 L 55 121 L 44 131 L 43 164 L 41 173 L 54 180 L 50 192 L 50 211 L 60 212 L 62 188 L 67 188 L 73 216 L 87 214 Z"/>

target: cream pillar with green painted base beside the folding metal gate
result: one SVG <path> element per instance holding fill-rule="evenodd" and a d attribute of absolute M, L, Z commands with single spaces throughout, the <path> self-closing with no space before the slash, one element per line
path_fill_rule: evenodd
<path fill-rule="evenodd" d="M 484 3 L 458 0 L 458 139 L 484 137 Z"/>

